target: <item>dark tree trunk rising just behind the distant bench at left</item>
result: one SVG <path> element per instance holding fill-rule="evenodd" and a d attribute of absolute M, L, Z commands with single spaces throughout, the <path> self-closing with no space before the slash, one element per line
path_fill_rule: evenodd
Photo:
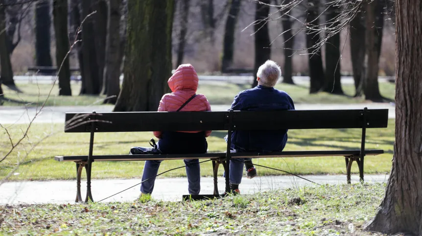
<path fill-rule="evenodd" d="M 51 66 L 50 2 L 35 3 L 35 56 L 37 66 Z"/>

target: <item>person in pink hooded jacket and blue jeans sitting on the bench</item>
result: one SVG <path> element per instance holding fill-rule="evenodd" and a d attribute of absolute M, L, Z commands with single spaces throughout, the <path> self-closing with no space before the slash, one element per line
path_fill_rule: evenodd
<path fill-rule="evenodd" d="M 203 94 L 196 94 L 198 75 L 191 64 L 181 64 L 176 72 L 168 79 L 168 86 L 172 93 L 164 94 L 158 111 L 210 111 L 210 103 Z M 190 101 L 188 101 L 190 99 Z M 185 104 L 188 102 L 187 104 Z M 185 104 L 185 106 L 183 106 Z M 182 107 L 182 108 L 181 108 Z M 207 137 L 209 131 L 155 131 L 154 136 L 159 138 L 158 148 L 163 153 L 206 153 L 208 148 Z M 184 160 L 188 176 L 189 194 L 199 194 L 200 168 L 199 160 Z M 145 161 L 141 193 L 150 194 L 154 189 L 155 175 L 160 167 L 159 160 Z"/>

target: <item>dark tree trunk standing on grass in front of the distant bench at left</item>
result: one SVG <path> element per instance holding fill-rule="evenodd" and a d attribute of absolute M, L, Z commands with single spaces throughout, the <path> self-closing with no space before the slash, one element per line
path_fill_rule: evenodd
<path fill-rule="evenodd" d="M 59 95 L 71 96 L 68 39 L 68 1 L 53 0 L 54 32 L 56 36 L 56 63 L 59 72 Z M 61 68 L 60 68 L 61 67 Z"/>

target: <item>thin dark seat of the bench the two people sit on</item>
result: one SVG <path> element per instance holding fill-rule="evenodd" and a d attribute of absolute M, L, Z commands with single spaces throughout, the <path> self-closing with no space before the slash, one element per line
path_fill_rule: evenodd
<path fill-rule="evenodd" d="M 264 158 L 264 157 L 316 157 L 316 156 L 349 156 L 359 155 L 360 150 L 323 150 L 323 151 L 281 151 L 260 154 L 232 153 L 232 158 Z M 365 150 L 366 155 L 383 154 L 384 150 Z M 145 161 L 145 160 L 180 160 L 180 159 L 216 159 L 225 157 L 224 152 L 201 154 L 146 154 L 146 155 L 94 155 L 95 161 Z M 56 161 L 86 161 L 88 156 L 56 156 Z"/>

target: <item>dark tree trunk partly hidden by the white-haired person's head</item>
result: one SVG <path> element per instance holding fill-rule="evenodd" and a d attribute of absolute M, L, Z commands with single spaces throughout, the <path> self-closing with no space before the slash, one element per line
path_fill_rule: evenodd
<path fill-rule="evenodd" d="M 267 4 L 270 4 L 270 0 L 261 0 L 262 3 L 256 4 L 255 11 L 255 21 L 264 20 L 268 17 L 270 12 L 270 7 Z M 271 57 L 271 48 L 270 48 L 270 35 L 268 31 L 268 21 L 260 21 L 254 25 L 255 30 L 255 66 L 254 66 L 254 82 L 252 87 L 258 85 L 256 76 L 258 73 L 258 68 L 264 64 L 267 60 L 270 60 Z"/>

